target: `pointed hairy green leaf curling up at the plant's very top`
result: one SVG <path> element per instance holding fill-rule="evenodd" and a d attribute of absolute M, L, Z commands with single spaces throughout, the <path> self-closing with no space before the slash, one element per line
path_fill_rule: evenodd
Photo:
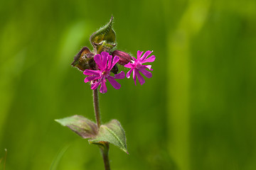
<path fill-rule="evenodd" d="M 97 30 L 90 37 L 90 42 L 92 46 L 95 48 L 97 53 L 102 51 L 109 51 L 117 44 L 115 43 L 115 33 L 112 28 L 113 16 L 110 19 L 110 23 Z"/>

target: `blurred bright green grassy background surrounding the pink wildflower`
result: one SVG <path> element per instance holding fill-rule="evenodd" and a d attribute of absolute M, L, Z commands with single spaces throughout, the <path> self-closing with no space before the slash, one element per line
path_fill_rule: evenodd
<path fill-rule="evenodd" d="M 54 119 L 94 120 L 70 63 L 111 15 L 118 50 L 156 56 L 143 86 L 123 79 L 100 94 L 102 121 L 127 135 L 129 155 L 110 147 L 112 169 L 256 169 L 255 0 L 11 0 L 0 1 L 6 170 L 103 169 L 99 149 Z"/>

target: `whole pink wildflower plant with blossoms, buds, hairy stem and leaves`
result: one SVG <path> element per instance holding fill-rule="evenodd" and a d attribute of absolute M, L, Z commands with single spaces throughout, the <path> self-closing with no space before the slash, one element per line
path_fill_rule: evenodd
<path fill-rule="evenodd" d="M 110 23 L 107 23 L 106 26 L 91 35 L 90 42 L 93 50 L 90 51 L 88 47 L 82 47 L 82 50 L 78 52 L 71 64 L 87 76 L 85 77 L 85 83 L 90 83 L 91 85 L 96 123 L 82 115 L 73 115 L 56 120 L 61 125 L 67 126 L 76 132 L 80 137 L 89 139 L 90 144 L 100 147 L 105 170 L 110 170 L 109 145 L 115 145 L 127 152 L 127 142 L 124 129 L 118 120 L 111 120 L 109 123 L 102 125 L 97 89 L 100 87 L 100 93 L 105 94 L 107 92 L 107 81 L 110 82 L 114 89 L 120 89 L 121 84 L 116 79 L 124 79 L 125 73 L 119 72 L 118 67 L 129 69 L 126 77 L 129 78 L 132 74 L 135 85 L 137 78 L 139 84 L 144 84 L 145 80 L 140 73 L 147 78 L 151 78 L 152 74 L 149 71 L 153 69 L 151 69 L 151 65 L 146 63 L 154 62 L 156 59 L 154 55 L 151 55 L 153 51 L 146 51 L 143 54 L 142 51 L 138 50 L 137 58 L 135 58 L 127 52 L 113 50 L 117 42 L 115 41 L 112 21 L 113 17 Z"/>

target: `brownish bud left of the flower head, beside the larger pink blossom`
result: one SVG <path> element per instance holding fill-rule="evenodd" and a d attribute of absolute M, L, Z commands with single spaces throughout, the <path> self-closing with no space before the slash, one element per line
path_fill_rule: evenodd
<path fill-rule="evenodd" d="M 88 47 L 82 47 L 82 50 L 75 55 L 71 65 L 77 67 L 81 71 L 85 71 L 85 69 L 95 69 L 93 56 L 94 54 L 90 52 Z"/>

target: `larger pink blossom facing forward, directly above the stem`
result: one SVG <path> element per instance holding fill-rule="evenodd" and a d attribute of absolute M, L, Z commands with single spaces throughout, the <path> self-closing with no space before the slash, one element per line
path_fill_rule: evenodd
<path fill-rule="evenodd" d="M 97 89 L 97 87 L 101 84 L 100 93 L 102 94 L 105 94 L 107 92 L 107 80 L 110 81 L 110 84 L 114 87 L 114 89 L 120 89 L 121 85 L 117 83 L 115 79 L 124 79 L 124 72 L 115 74 L 114 77 L 110 76 L 110 70 L 114 67 L 114 64 L 119 61 L 119 57 L 114 57 L 114 59 L 112 60 L 112 55 L 109 55 L 109 53 L 107 52 L 101 52 L 100 55 L 95 55 L 94 60 L 99 70 L 85 69 L 85 72 L 83 72 L 83 74 L 88 76 L 85 78 L 85 83 L 90 81 L 92 84 L 92 90 Z"/>

